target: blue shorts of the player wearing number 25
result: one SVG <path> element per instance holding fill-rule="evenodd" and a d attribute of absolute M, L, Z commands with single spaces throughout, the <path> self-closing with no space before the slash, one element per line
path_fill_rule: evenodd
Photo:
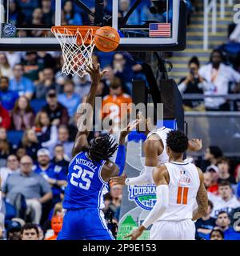
<path fill-rule="evenodd" d="M 102 210 L 66 210 L 57 240 L 114 240 Z"/>

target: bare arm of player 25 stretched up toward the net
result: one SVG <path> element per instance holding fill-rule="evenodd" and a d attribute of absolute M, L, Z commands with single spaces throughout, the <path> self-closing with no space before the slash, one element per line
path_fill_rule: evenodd
<path fill-rule="evenodd" d="M 93 124 L 93 115 L 94 115 L 94 102 L 95 96 L 98 88 L 98 84 L 107 70 L 100 71 L 100 65 L 98 66 L 88 66 L 86 72 L 90 74 L 91 78 L 91 86 L 90 92 L 87 95 L 86 103 L 81 105 L 80 114 L 78 120 L 80 121 L 80 125 L 78 126 L 78 134 L 76 135 L 74 147 L 72 150 L 72 156 L 78 154 L 82 151 L 82 149 L 88 147 L 87 138 L 90 133 L 90 129 L 92 128 Z M 86 121 L 88 124 L 91 124 L 90 127 L 86 126 Z"/>

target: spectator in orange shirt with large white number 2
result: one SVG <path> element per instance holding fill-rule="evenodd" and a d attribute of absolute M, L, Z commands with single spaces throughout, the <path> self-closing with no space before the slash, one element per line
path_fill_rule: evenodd
<path fill-rule="evenodd" d="M 127 106 L 124 108 L 123 103 L 127 105 L 132 102 L 128 94 L 124 94 L 121 81 L 118 78 L 110 84 L 110 94 L 102 100 L 102 118 L 110 118 L 113 121 L 113 127 L 118 126 L 120 118 L 129 113 Z"/>

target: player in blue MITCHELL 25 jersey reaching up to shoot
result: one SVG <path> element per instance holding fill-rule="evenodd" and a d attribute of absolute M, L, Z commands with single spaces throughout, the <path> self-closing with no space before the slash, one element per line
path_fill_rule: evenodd
<path fill-rule="evenodd" d="M 106 70 L 88 67 L 91 77 L 90 93 L 86 104 L 94 107 L 94 98 L 98 83 Z M 87 119 L 93 118 L 93 113 Z M 83 125 L 82 125 L 83 126 Z M 102 208 L 103 196 L 108 192 L 111 177 L 121 175 L 125 164 L 125 138 L 135 125 L 122 130 L 119 145 L 110 135 L 100 136 L 88 142 L 89 131 L 79 127 L 73 148 L 73 159 L 69 165 L 68 185 L 65 191 L 63 219 L 58 240 L 112 240 L 114 239 L 106 226 Z M 118 149 L 116 162 L 109 159 Z"/>

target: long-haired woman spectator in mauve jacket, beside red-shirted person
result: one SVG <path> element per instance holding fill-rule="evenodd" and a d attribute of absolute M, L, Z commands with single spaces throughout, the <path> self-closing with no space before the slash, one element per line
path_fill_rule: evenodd
<path fill-rule="evenodd" d="M 26 96 L 20 96 L 12 110 L 12 126 L 14 130 L 30 129 L 34 125 L 34 110 Z"/>

